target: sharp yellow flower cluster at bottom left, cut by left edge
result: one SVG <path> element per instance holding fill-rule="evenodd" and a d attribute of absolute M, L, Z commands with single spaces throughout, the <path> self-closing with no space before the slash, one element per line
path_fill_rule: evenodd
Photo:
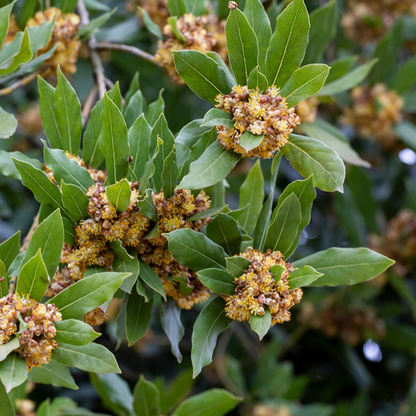
<path fill-rule="evenodd" d="M 8 342 L 22 325 L 19 315 L 26 329 L 19 335 L 20 347 L 16 351 L 26 360 L 30 371 L 32 367 L 49 363 L 52 351 L 58 346 L 53 322 L 61 321 L 62 316 L 55 305 L 9 294 L 0 299 L 0 345 Z"/>

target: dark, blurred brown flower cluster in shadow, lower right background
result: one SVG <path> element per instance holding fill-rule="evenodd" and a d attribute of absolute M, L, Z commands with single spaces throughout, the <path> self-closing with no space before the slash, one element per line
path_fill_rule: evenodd
<path fill-rule="evenodd" d="M 362 344 L 368 338 L 382 338 L 386 331 L 375 310 L 361 305 L 328 304 L 318 314 L 313 304 L 305 303 L 299 319 L 327 337 L 339 337 L 351 346 Z"/>

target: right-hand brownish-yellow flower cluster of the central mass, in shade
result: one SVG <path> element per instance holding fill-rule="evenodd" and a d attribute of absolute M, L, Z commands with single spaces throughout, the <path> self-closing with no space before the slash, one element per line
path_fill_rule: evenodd
<path fill-rule="evenodd" d="M 153 196 L 157 211 L 157 236 L 142 240 L 137 247 L 140 257 L 160 276 L 167 296 L 172 297 L 183 309 L 190 309 L 197 302 L 204 302 L 209 297 L 208 289 L 202 285 L 197 275 L 188 267 L 180 265 L 165 248 L 168 233 L 180 228 L 201 231 L 211 221 L 204 218 L 189 221 L 198 212 L 210 206 L 208 196 L 201 191 L 195 198 L 191 191 L 177 189 L 167 201 L 163 193 Z"/>

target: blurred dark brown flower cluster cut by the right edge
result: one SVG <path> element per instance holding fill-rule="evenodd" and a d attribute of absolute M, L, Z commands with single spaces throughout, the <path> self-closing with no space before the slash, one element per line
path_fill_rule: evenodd
<path fill-rule="evenodd" d="M 403 209 L 390 220 L 383 236 L 370 236 L 370 247 L 396 261 L 392 271 L 404 276 L 416 266 L 416 213 Z"/>

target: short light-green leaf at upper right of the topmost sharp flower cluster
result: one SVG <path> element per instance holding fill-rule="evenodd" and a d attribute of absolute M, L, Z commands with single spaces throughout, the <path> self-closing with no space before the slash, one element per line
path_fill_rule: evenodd
<path fill-rule="evenodd" d="M 296 70 L 281 91 L 289 108 L 319 92 L 329 74 L 329 66 L 310 64 Z"/>

